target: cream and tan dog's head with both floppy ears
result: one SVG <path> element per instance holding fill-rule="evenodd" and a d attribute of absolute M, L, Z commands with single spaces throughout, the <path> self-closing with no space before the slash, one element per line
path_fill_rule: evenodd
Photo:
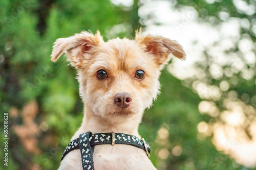
<path fill-rule="evenodd" d="M 66 53 L 78 70 L 79 92 L 84 106 L 93 114 L 112 121 L 123 121 L 152 105 L 159 93 L 161 67 L 169 55 L 184 59 L 176 41 L 136 34 L 135 40 L 112 39 L 104 42 L 99 32 L 81 32 L 55 41 L 52 61 Z"/>

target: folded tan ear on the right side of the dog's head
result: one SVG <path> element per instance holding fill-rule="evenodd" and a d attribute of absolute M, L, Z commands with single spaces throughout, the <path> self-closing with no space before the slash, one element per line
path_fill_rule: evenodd
<path fill-rule="evenodd" d="M 185 60 L 186 54 L 183 47 L 175 40 L 161 36 L 141 36 L 141 29 L 136 32 L 135 40 L 145 45 L 145 51 L 155 56 L 155 61 L 158 65 L 166 64 L 170 60 L 169 54 Z"/>

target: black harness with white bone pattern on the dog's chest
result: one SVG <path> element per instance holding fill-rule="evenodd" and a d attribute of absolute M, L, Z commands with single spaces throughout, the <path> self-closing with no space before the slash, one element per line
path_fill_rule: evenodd
<path fill-rule="evenodd" d="M 150 145 L 142 138 L 140 140 L 134 135 L 123 133 L 95 133 L 86 132 L 79 135 L 79 138 L 72 140 L 66 147 L 61 160 L 71 151 L 80 149 L 83 169 L 94 170 L 93 151 L 98 144 L 129 144 L 144 150 L 150 157 Z"/>

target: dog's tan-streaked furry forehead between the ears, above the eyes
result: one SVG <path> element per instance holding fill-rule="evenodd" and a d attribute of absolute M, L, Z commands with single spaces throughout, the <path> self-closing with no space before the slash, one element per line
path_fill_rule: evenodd
<path fill-rule="evenodd" d="M 112 39 L 103 43 L 95 58 L 95 64 L 111 69 L 129 69 L 145 65 L 146 60 L 143 46 L 135 40 Z"/>

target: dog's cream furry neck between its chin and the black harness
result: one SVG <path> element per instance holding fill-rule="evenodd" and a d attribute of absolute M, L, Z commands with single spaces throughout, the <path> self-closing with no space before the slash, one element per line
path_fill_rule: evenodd
<path fill-rule="evenodd" d="M 141 122 L 142 113 L 138 113 L 131 118 L 127 118 L 122 122 L 113 122 L 107 118 L 103 118 L 94 114 L 90 109 L 84 108 L 84 116 L 81 127 L 72 137 L 72 140 L 78 138 L 81 133 L 125 133 L 134 135 L 140 138 L 138 133 L 138 127 Z"/>

